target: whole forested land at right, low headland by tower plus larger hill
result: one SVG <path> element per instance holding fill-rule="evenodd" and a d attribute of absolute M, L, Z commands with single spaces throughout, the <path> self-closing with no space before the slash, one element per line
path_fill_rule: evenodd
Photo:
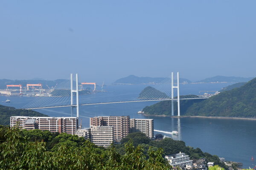
<path fill-rule="evenodd" d="M 177 108 L 176 105 L 175 102 L 175 109 Z M 149 115 L 171 115 L 171 107 L 171 101 L 163 101 L 146 106 L 143 111 Z M 175 110 L 175 112 L 177 111 Z M 180 114 L 187 116 L 256 117 L 256 78 L 239 88 L 223 91 L 209 99 L 180 101 Z"/>

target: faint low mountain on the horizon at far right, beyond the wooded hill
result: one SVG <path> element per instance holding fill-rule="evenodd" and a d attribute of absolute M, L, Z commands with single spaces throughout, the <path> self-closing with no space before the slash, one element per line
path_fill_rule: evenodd
<path fill-rule="evenodd" d="M 215 76 L 206 78 L 197 82 L 248 82 L 253 77 L 226 77 L 226 76 Z"/>

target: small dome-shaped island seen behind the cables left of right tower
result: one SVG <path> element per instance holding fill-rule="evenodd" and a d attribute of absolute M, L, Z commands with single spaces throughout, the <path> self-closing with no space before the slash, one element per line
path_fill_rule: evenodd
<path fill-rule="evenodd" d="M 162 99 L 162 98 L 169 98 L 165 93 L 148 86 L 140 92 L 139 99 Z"/>

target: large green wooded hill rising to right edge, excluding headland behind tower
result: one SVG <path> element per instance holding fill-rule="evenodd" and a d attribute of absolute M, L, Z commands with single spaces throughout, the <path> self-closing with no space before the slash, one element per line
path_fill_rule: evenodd
<path fill-rule="evenodd" d="M 198 116 L 256 116 L 256 78 L 240 88 L 224 91 L 200 103 L 195 103 L 186 115 Z"/>

